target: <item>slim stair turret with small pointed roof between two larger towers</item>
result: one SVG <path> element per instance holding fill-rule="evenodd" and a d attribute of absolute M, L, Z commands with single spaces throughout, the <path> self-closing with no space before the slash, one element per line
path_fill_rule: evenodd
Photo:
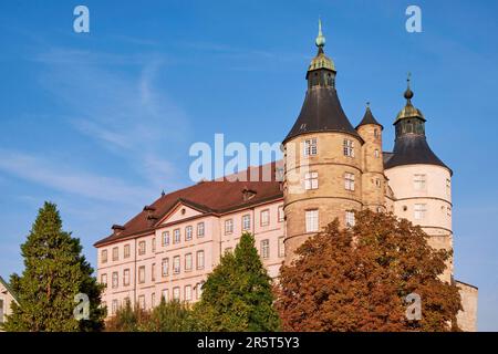
<path fill-rule="evenodd" d="M 384 127 L 375 119 L 366 104 L 366 112 L 356 131 L 365 144 L 362 148 L 362 199 L 363 208 L 386 211 L 384 162 L 382 155 L 382 131 Z"/>

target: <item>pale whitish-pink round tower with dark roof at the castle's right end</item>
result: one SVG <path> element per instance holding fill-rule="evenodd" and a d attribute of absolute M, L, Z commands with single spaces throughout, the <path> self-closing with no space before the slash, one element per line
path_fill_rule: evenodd
<path fill-rule="evenodd" d="M 393 155 L 385 162 L 385 175 L 394 192 L 394 212 L 419 225 L 435 249 L 453 250 L 452 169 L 427 144 L 425 117 L 413 106 L 413 91 L 405 92 L 406 105 L 394 122 Z M 453 259 L 442 275 L 450 281 Z"/>

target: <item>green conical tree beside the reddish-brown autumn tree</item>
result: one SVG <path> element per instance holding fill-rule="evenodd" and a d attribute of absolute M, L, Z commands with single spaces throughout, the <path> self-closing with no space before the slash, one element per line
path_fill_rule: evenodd
<path fill-rule="evenodd" d="M 203 287 L 194 310 L 197 330 L 278 331 L 280 319 L 273 300 L 271 278 L 255 248 L 255 238 L 243 233 L 234 253 L 221 258 Z"/>

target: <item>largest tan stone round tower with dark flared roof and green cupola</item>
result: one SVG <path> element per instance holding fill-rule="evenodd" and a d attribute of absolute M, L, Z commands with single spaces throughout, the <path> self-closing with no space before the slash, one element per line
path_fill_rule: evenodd
<path fill-rule="evenodd" d="M 362 208 L 363 139 L 351 125 L 335 91 L 336 70 L 325 55 L 319 22 L 318 54 L 307 73 L 301 113 L 283 140 L 286 262 L 310 236 L 335 218 L 354 223 Z"/>

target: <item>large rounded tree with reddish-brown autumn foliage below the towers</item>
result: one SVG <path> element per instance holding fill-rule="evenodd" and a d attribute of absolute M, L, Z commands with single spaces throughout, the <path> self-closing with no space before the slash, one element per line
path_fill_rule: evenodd
<path fill-rule="evenodd" d="M 458 288 L 439 279 L 450 252 L 392 214 L 361 211 L 353 228 L 339 221 L 307 240 L 282 267 L 277 309 L 287 331 L 458 331 Z M 408 294 L 422 317 L 408 320 Z"/>

